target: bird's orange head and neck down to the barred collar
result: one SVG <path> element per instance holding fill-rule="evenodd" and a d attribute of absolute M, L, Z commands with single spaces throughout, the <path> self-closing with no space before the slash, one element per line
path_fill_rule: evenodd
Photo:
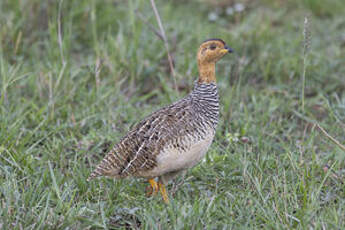
<path fill-rule="evenodd" d="M 198 50 L 199 83 L 215 82 L 216 62 L 232 52 L 222 39 L 212 38 L 204 41 Z"/>

